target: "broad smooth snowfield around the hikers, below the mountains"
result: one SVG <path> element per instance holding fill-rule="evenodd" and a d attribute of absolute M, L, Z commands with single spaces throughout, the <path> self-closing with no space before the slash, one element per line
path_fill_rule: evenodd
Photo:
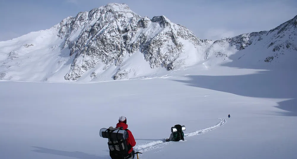
<path fill-rule="evenodd" d="M 0 158 L 108 159 L 99 130 L 121 115 L 140 159 L 296 158 L 296 68 L 237 64 L 122 81 L 1 81 Z M 163 143 L 175 124 L 185 141 Z"/>

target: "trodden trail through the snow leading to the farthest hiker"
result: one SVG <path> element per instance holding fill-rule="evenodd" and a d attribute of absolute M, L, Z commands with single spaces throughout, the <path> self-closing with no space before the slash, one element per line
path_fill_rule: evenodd
<path fill-rule="evenodd" d="M 219 119 L 220 119 L 220 122 L 217 123 L 215 126 L 211 126 L 209 128 L 205 128 L 205 129 L 201 129 L 201 130 L 198 130 L 198 131 L 194 131 L 194 132 L 184 134 L 184 137 L 190 137 L 190 136 L 204 134 L 204 133 L 206 133 L 208 131 L 211 131 L 213 129 L 216 129 L 216 128 L 218 128 L 218 127 L 220 127 L 220 126 L 222 126 L 223 124 L 226 123 L 225 118 L 219 118 Z M 158 141 L 139 144 L 139 145 L 135 146 L 134 149 L 135 149 L 136 152 L 137 151 L 147 152 L 147 151 L 154 150 L 154 149 L 160 149 L 160 148 L 164 147 L 164 145 L 167 145 L 167 144 L 173 144 L 173 142 L 165 142 L 165 139 L 160 139 Z"/>

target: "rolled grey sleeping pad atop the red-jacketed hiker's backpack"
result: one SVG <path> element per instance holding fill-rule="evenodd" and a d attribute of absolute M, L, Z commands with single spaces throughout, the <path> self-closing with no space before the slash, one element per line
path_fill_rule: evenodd
<path fill-rule="evenodd" d="M 113 130 L 113 132 L 109 136 L 108 129 L 102 128 L 100 129 L 99 134 L 100 134 L 100 137 L 111 138 L 114 140 L 125 140 L 129 137 L 129 134 L 126 130 L 119 130 L 119 129 Z"/>

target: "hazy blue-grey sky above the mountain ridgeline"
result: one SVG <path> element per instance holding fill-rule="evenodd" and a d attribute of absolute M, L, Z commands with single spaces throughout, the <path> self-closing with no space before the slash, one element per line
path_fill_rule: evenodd
<path fill-rule="evenodd" d="M 270 30 L 297 15 L 297 0 L 0 0 L 0 41 L 110 2 L 125 3 L 140 16 L 165 15 L 198 38 L 212 40 Z"/>

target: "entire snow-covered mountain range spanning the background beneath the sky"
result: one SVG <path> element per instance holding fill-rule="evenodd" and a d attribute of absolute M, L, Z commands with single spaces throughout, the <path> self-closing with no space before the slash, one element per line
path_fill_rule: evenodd
<path fill-rule="evenodd" d="M 297 16 L 270 31 L 211 41 L 163 15 L 140 17 L 126 4 L 110 3 L 67 17 L 48 30 L 1 41 L 0 79 L 128 79 L 201 62 L 217 65 L 234 61 L 233 55 L 262 63 L 279 62 L 280 57 L 295 64 L 296 25 Z"/>

